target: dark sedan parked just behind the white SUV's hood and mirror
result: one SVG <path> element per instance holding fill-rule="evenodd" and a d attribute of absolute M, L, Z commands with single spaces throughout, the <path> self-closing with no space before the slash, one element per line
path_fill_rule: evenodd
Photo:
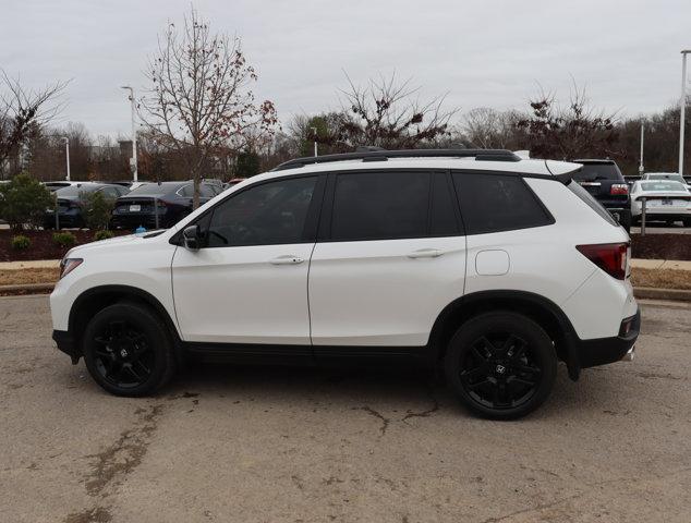
<path fill-rule="evenodd" d="M 201 203 L 216 196 L 214 186 L 201 184 Z M 112 211 L 112 229 L 167 229 L 192 212 L 194 186 L 192 182 L 147 183 L 118 198 Z M 156 207 L 154 205 L 156 204 Z M 157 216 L 158 215 L 158 218 Z"/>

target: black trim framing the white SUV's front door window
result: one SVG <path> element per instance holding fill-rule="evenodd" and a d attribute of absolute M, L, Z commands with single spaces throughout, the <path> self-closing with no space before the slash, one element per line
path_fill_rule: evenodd
<path fill-rule="evenodd" d="M 199 223 L 207 216 L 213 215 L 219 205 L 223 205 L 226 200 L 230 198 L 234 198 L 235 196 L 244 193 L 245 191 L 258 187 L 259 185 L 266 185 L 267 183 L 274 183 L 274 182 L 279 182 L 283 180 L 293 180 L 299 178 L 316 178 L 316 183 L 314 185 L 314 193 L 312 194 L 312 202 L 310 202 L 310 208 L 307 209 L 307 216 L 305 217 L 305 224 L 302 231 L 302 239 L 301 239 L 302 241 L 291 243 L 289 245 L 315 243 L 316 236 L 317 236 L 317 226 L 319 222 L 318 220 L 322 214 L 322 207 L 324 202 L 324 191 L 326 187 L 326 178 L 327 178 L 326 174 L 327 173 L 324 173 L 324 172 L 304 172 L 299 174 L 289 174 L 287 177 L 275 177 L 275 178 L 269 178 L 268 180 L 258 181 L 256 183 L 253 183 L 252 185 L 246 185 L 242 187 L 240 191 L 233 191 L 232 193 L 223 197 L 223 199 L 216 202 L 210 208 L 208 208 L 207 210 L 202 212 L 199 216 L 197 216 L 196 219 L 189 222 L 183 229 L 175 232 L 175 234 L 173 234 L 170 238 L 168 243 L 172 245 L 183 246 L 184 243 L 182 241 L 182 231 L 184 229 Z M 208 220 L 209 223 L 211 222 L 211 219 L 213 219 L 213 216 L 209 216 L 209 220 Z M 266 245 L 283 245 L 283 243 L 260 243 L 260 244 L 254 244 L 254 245 L 227 245 L 227 246 L 219 245 L 214 247 L 207 247 L 206 245 L 202 245 L 201 248 L 241 248 L 241 247 L 257 247 L 257 246 L 266 246 Z"/>

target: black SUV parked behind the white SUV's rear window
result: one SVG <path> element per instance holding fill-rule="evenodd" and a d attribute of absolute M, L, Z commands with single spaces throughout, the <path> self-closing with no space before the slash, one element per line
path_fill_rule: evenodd
<path fill-rule="evenodd" d="M 573 160 L 583 168 L 573 174 L 597 202 L 605 207 L 627 232 L 631 229 L 631 199 L 619 167 L 614 160 Z"/>

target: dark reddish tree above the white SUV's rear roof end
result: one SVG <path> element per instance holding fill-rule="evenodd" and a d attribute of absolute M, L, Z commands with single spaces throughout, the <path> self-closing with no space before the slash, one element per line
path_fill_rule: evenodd
<path fill-rule="evenodd" d="M 519 119 L 517 131 L 524 148 L 537 158 L 607 158 L 618 150 L 616 114 L 589 106 L 584 89 L 574 88 L 568 107 L 555 102 L 554 95 L 541 94 L 531 100 L 531 113 Z"/>

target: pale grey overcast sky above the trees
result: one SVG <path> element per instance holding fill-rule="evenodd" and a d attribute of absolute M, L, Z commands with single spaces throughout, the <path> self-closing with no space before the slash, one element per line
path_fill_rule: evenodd
<path fill-rule="evenodd" d="M 521 108 L 538 85 L 638 115 L 678 99 L 691 1 L 195 0 L 211 28 L 243 39 L 259 99 L 280 119 L 339 107 L 344 73 L 364 83 L 396 70 L 448 106 Z M 567 5 L 568 4 L 568 5 Z M 0 0 L 0 68 L 24 84 L 72 82 L 61 121 L 129 133 L 120 85 L 143 69 L 187 0 Z M 690 66 L 691 70 L 691 66 Z M 691 71 L 690 71 L 691 77 Z"/>

